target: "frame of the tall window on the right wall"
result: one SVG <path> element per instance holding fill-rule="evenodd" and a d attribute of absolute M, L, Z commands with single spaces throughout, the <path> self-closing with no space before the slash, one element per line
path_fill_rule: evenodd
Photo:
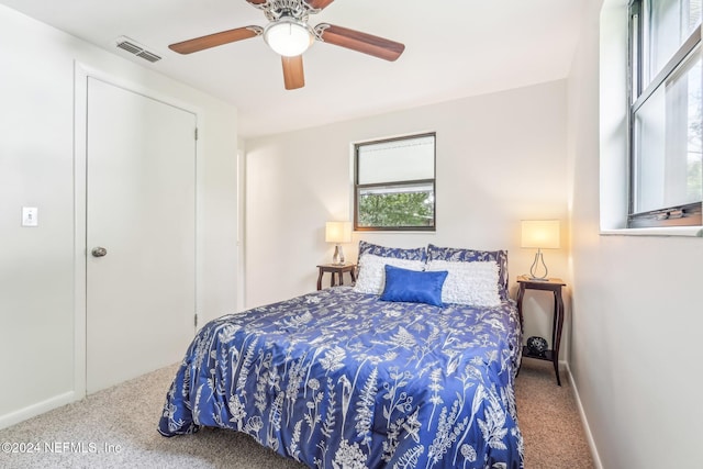
<path fill-rule="evenodd" d="M 703 224 L 702 205 L 703 200 L 684 203 L 673 206 L 662 206 L 655 210 L 635 212 L 635 188 L 636 186 L 636 129 L 635 116 L 637 111 L 647 100 L 662 86 L 668 78 L 674 76 L 677 70 L 684 65 L 685 59 L 692 54 L 701 54 L 703 47 L 701 41 L 702 26 L 696 29 L 679 46 L 673 56 L 667 62 L 649 83 L 644 86 L 645 66 L 645 35 L 646 14 L 644 4 L 646 1 L 656 0 L 631 0 L 628 4 L 628 27 L 627 27 L 627 154 L 628 154 L 628 180 L 627 180 L 627 227 L 668 227 L 668 226 L 700 226 Z M 702 198 L 703 199 L 703 198 Z"/>

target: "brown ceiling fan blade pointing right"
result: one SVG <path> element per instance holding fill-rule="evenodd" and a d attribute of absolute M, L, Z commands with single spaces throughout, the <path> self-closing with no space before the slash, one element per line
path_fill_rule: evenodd
<path fill-rule="evenodd" d="M 317 24 L 315 33 L 326 43 L 390 62 L 397 60 L 405 51 L 401 43 L 327 23 Z"/>

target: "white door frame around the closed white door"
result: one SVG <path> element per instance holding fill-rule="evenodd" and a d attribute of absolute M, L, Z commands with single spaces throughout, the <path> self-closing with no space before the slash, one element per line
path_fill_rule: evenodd
<path fill-rule="evenodd" d="M 108 71 L 91 67 L 76 60 L 74 63 L 74 393 L 75 400 L 81 400 L 87 393 L 87 167 L 88 167 L 88 79 L 94 78 L 124 90 L 142 94 L 165 104 L 182 109 L 196 115 L 196 125 L 200 134 L 204 134 L 204 112 L 191 103 L 182 102 L 150 88 L 116 77 Z M 201 191 L 204 183 L 204 161 L 202 138 L 196 141 L 196 311 L 202 310 L 200 279 L 202 278 L 203 246 L 201 230 L 204 212 Z M 194 331 L 193 331 L 194 332 Z"/>

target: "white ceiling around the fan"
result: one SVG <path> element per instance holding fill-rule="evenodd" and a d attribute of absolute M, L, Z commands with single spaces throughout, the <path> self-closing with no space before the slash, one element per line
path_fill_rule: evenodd
<path fill-rule="evenodd" d="M 245 0 L 0 0 L 40 21 L 234 104 L 244 138 L 565 78 L 589 0 L 336 0 L 327 22 L 405 44 L 397 62 L 315 43 L 305 87 L 283 89 L 280 58 L 254 37 L 191 55 L 168 44 L 266 25 Z M 114 46 L 127 36 L 150 64 Z M 5 45 L 7 46 L 7 45 Z"/>

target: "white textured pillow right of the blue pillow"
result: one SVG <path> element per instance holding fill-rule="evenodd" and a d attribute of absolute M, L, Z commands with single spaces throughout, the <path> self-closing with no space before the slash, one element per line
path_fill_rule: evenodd
<path fill-rule="evenodd" d="M 495 261 L 429 260 L 426 270 L 446 270 L 448 272 L 442 288 L 443 303 L 496 306 L 501 302 L 498 294 L 499 270 Z"/>

